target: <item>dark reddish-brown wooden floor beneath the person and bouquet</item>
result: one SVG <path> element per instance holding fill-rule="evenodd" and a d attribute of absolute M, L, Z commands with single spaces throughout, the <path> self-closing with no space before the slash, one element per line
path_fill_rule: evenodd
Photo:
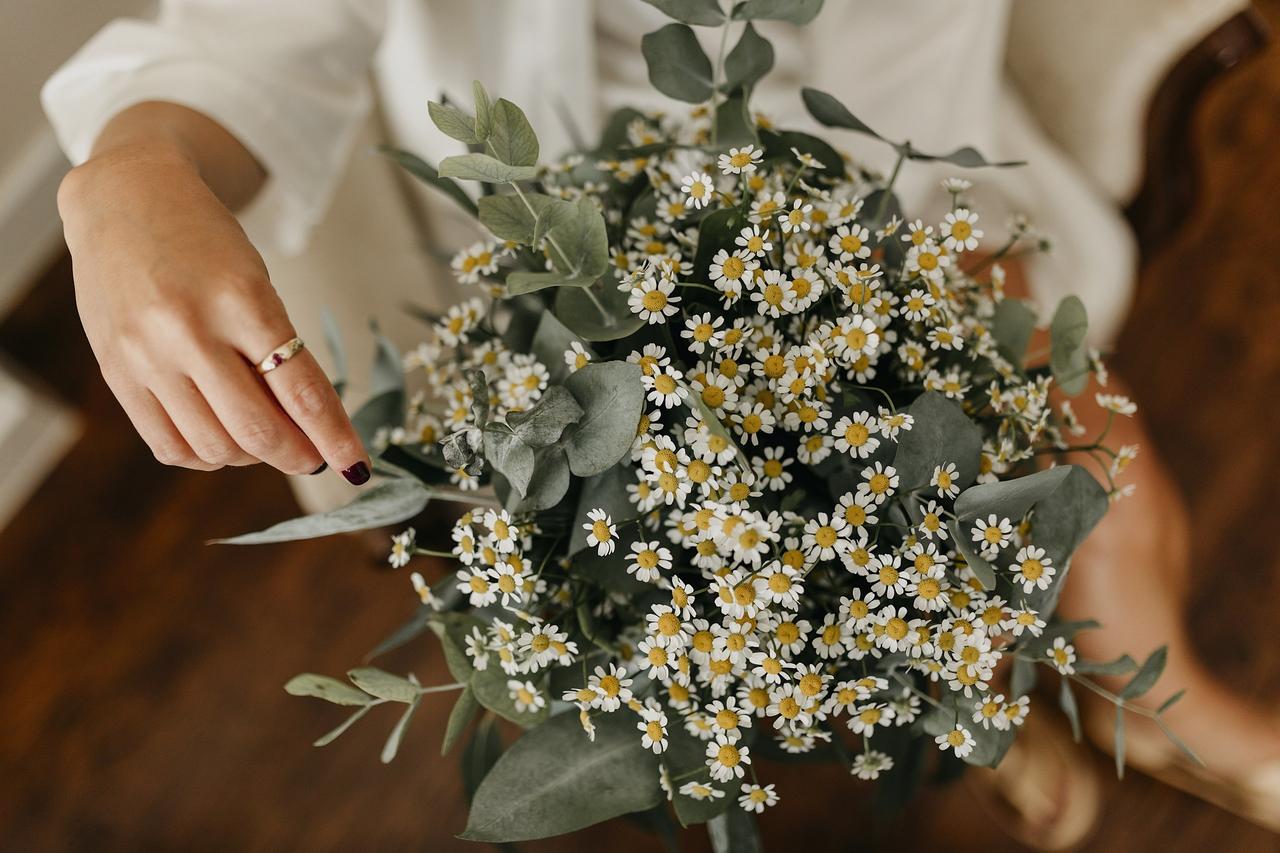
<path fill-rule="evenodd" d="M 1280 3 L 1261 4 L 1272 26 Z M 1280 698 L 1275 546 L 1280 478 L 1280 50 L 1216 86 L 1193 123 L 1204 192 L 1149 260 L 1117 362 L 1194 520 L 1189 619 L 1242 693 Z M 287 697 L 294 672 L 340 674 L 411 610 L 407 576 L 349 538 L 261 548 L 206 538 L 292 515 L 268 470 L 163 469 L 95 370 L 58 261 L 0 325 L 0 348 L 84 415 L 87 432 L 0 534 L 0 849 L 453 850 L 465 822 L 448 699 L 424 704 L 399 758 L 394 712 L 325 749 L 342 712 Z M 445 678 L 431 644 L 388 662 Z M 1097 757 L 1105 815 L 1085 849 L 1280 849 L 1280 839 Z M 810 784 L 799 788 L 805 780 Z M 964 788 L 872 821 L 831 768 L 785 774 L 771 849 L 1021 849 Z M 964 815 L 969 812 L 970 817 Z M 698 833 L 687 849 L 705 849 Z M 652 849 L 625 821 L 545 850 Z"/>

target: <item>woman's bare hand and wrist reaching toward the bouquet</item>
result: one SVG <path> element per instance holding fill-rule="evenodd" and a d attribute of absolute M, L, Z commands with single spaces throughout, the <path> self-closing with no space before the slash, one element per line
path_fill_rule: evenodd
<path fill-rule="evenodd" d="M 156 459 L 214 470 L 330 465 L 369 479 L 333 386 L 296 332 L 233 211 L 266 172 L 216 122 L 147 102 L 116 115 L 58 192 L 76 304 L 102 377 Z"/>

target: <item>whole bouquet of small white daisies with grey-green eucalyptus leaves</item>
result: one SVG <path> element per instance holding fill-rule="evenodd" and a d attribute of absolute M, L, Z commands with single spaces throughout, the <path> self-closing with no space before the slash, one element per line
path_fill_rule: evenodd
<path fill-rule="evenodd" d="M 1016 164 L 883 140 L 803 90 L 822 126 L 896 151 L 886 178 L 754 114 L 773 51 L 753 22 L 806 23 L 820 0 L 649 1 L 676 19 L 644 38 L 650 79 L 687 111 L 622 110 L 595 149 L 540 164 L 521 109 L 476 83 L 471 110 L 430 105 L 467 152 L 438 169 L 389 152 L 490 234 L 452 264 L 476 296 L 428 318 L 403 359 L 381 341 L 355 416 L 381 483 L 233 542 L 470 503 L 448 540 L 394 537 L 393 566 L 431 555 L 456 571 L 412 573 L 421 607 L 378 649 L 430 633 L 454 681 L 300 675 L 289 693 L 356 708 L 317 745 L 399 703 L 390 761 L 417 704 L 452 693 L 443 749 L 467 738 L 479 780 L 462 838 L 673 813 L 721 849 L 778 800 L 764 762 L 836 761 L 896 795 L 931 754 L 998 763 L 1037 672 L 1061 679 L 1076 730 L 1073 686 L 1116 703 L 1123 766 L 1123 711 L 1160 721 L 1130 702 L 1164 652 L 1082 661 L 1071 640 L 1092 624 L 1053 619 L 1135 452 L 1078 438 L 1065 398 L 1106 380 L 1084 309 L 1056 309 L 1036 364 L 1037 315 L 1005 298 L 1000 261 L 1043 238 L 1015 222 L 979 251 L 964 179 L 945 182 L 941 222 L 893 193 L 914 161 Z M 714 60 L 694 26 L 721 28 Z M 1101 460 L 1106 484 L 1055 464 L 1069 451 Z M 1116 694 L 1087 678 L 1100 672 L 1134 676 Z M 506 749 L 498 719 L 522 729 Z"/>

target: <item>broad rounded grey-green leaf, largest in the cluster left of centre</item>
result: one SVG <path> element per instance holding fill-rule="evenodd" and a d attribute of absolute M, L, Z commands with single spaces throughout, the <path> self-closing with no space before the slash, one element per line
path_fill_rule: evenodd
<path fill-rule="evenodd" d="M 640 375 L 637 364 L 600 361 L 564 380 L 584 411 L 562 441 L 570 470 L 577 476 L 605 471 L 631 450 L 644 411 Z"/>

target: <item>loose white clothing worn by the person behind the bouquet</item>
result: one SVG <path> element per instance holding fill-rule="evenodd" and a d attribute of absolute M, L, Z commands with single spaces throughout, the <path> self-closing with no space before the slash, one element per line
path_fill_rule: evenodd
<path fill-rule="evenodd" d="M 1052 307 L 1076 293 L 1091 337 L 1107 342 L 1132 293 L 1133 240 L 1006 79 L 1009 12 L 1009 0 L 828 0 L 808 27 L 765 23 L 777 63 L 755 106 L 813 132 L 799 97 L 808 85 L 918 149 L 973 145 L 988 159 L 1027 160 L 1000 170 L 909 164 L 899 190 L 909 214 L 938 216 L 946 204 L 938 181 L 973 181 L 991 247 L 1007 216 L 1025 213 L 1053 243 L 1032 264 L 1037 298 Z M 641 35 L 666 20 L 640 0 L 164 0 L 156 20 L 116 20 L 99 32 L 50 78 L 44 102 L 77 164 L 133 104 L 172 101 L 211 117 L 270 175 L 243 216 L 251 238 L 300 252 L 374 87 L 394 141 L 438 161 L 457 143 L 430 124 L 426 101 L 445 92 L 466 102 L 471 81 L 481 79 L 525 109 L 545 156 L 570 146 L 566 114 L 591 138 L 617 106 L 680 109 L 649 87 L 639 49 Z M 718 33 L 696 31 L 714 55 Z M 873 167 L 892 164 L 892 151 L 873 140 L 822 133 Z"/>

